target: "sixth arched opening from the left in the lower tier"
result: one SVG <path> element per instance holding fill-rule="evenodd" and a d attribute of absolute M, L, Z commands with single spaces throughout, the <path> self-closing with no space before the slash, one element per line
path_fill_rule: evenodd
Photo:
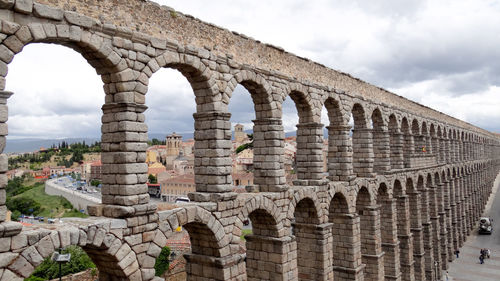
<path fill-rule="evenodd" d="M 360 217 L 361 260 L 366 265 L 364 275 L 367 280 L 384 279 L 384 259 L 380 242 L 380 210 L 372 205 L 370 193 L 361 187 L 356 198 L 356 211 Z"/>

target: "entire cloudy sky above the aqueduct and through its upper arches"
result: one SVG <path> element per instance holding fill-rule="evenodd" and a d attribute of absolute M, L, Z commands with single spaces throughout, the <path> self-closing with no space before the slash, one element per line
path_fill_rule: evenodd
<path fill-rule="evenodd" d="M 157 2 L 500 132 L 499 1 Z M 6 89 L 15 92 L 9 138 L 100 136 L 102 82 L 73 50 L 27 46 L 9 67 Z M 193 130 L 194 95 L 175 70 L 152 77 L 146 104 L 150 132 Z M 250 126 L 250 104 L 239 87 L 230 104 L 233 123 Z M 287 131 L 296 115 L 288 99 Z"/>

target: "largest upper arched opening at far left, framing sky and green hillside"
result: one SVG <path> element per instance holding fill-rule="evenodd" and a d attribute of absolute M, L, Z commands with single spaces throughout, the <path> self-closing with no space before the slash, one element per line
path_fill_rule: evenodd
<path fill-rule="evenodd" d="M 90 50 L 69 42 L 56 43 L 29 44 L 22 52 L 18 50 L 8 65 L 8 75 L 2 62 L 6 88 L 14 94 L 1 95 L 2 123 L 8 119 L 9 126 L 9 136 L 0 136 L 1 152 L 17 152 L 18 156 L 9 159 L 13 177 L 5 190 L 1 188 L 7 197 L 1 208 L 5 210 L 7 203 L 12 213 L 5 217 L 2 211 L 0 222 L 22 220 L 43 226 L 59 218 L 86 217 L 87 206 L 100 202 L 99 187 L 91 186 L 90 167 L 100 162 L 103 83 L 85 59 Z M 7 125 L 2 126 L 6 134 Z M 7 157 L 3 159 L 7 161 Z M 100 175 L 95 177 L 100 179 Z M 73 200 L 74 195 L 80 198 L 84 192 L 95 195 L 95 200 Z M 19 225 L 18 231 L 21 228 Z M 100 267 L 94 257 L 93 261 Z M 39 265 L 38 260 L 31 262 L 33 267 Z M 20 274 L 27 277 L 30 273 L 28 269 Z"/>

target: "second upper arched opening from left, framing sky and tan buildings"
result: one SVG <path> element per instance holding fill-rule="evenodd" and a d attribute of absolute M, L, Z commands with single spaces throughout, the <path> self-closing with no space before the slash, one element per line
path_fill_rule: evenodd
<path fill-rule="evenodd" d="M 190 78 L 169 67 L 181 69 Z M 159 210 L 188 201 L 188 194 L 196 191 L 193 122 L 196 101 L 189 82 L 194 76 L 195 71 L 186 66 L 169 65 L 149 80 L 148 109 L 144 112 L 148 128 L 145 162 L 148 192 Z M 196 171 L 201 172 L 200 176 L 206 174 L 200 169 Z"/>

